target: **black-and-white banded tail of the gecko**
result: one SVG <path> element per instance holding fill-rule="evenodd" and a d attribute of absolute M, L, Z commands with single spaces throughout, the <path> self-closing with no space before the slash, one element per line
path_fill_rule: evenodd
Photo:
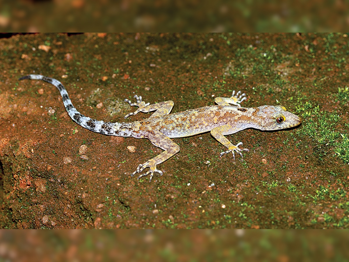
<path fill-rule="evenodd" d="M 72 101 L 69 98 L 68 92 L 65 89 L 65 87 L 62 85 L 60 81 L 54 78 L 45 77 L 44 75 L 26 75 L 25 77 L 21 77 L 18 80 L 23 79 L 35 79 L 35 80 L 43 80 L 47 83 L 50 83 L 57 87 L 59 90 L 59 93 L 62 96 L 63 104 L 65 109 L 68 112 L 68 115 L 74 122 L 81 125 L 83 128 L 86 128 L 90 131 L 105 134 L 108 136 L 129 136 L 125 132 L 121 131 L 122 128 L 125 128 L 129 125 L 129 123 L 111 123 L 111 122 L 104 122 L 99 121 L 96 119 L 92 119 L 88 116 L 84 116 L 79 111 L 76 110 L 74 105 L 72 104 Z"/>

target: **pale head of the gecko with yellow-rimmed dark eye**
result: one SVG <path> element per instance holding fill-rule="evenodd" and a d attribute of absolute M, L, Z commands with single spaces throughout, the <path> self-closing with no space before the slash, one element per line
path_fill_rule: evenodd
<path fill-rule="evenodd" d="M 258 115 L 264 120 L 261 123 L 261 130 L 292 128 L 302 123 L 299 116 L 288 112 L 282 105 L 263 105 L 258 109 Z"/>

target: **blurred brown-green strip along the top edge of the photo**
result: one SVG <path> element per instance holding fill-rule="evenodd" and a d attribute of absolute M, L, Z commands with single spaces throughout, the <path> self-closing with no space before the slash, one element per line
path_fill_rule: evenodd
<path fill-rule="evenodd" d="M 347 0 L 0 0 L 2 32 L 344 31 Z"/>

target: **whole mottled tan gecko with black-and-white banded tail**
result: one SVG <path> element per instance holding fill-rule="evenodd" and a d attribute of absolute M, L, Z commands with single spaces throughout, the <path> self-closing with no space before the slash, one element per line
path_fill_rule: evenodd
<path fill-rule="evenodd" d="M 233 145 L 225 135 L 247 128 L 281 130 L 298 126 L 302 122 L 297 115 L 287 111 L 282 105 L 241 107 L 240 103 L 247 99 L 246 94 L 241 93 L 241 91 L 235 93 L 235 90 L 231 97 L 216 97 L 215 102 L 217 105 L 188 109 L 172 114 L 170 112 L 174 105 L 173 101 L 150 104 L 142 101 L 141 96 L 134 95 L 135 103 L 128 99 L 125 99 L 125 102 L 131 106 L 138 107 L 138 109 L 127 114 L 125 118 L 136 115 L 139 112 L 148 113 L 155 111 L 149 118 L 131 123 L 104 122 L 84 116 L 77 111 L 68 96 L 67 90 L 57 79 L 39 74 L 30 74 L 21 77 L 19 80 L 23 79 L 43 80 L 57 87 L 68 115 L 83 128 L 108 136 L 147 138 L 154 146 L 164 150 L 156 157 L 140 164 L 131 175 L 133 177 L 149 167 L 147 172 L 138 176 L 138 179 L 140 179 L 150 174 L 149 182 L 153 178 L 154 173 L 163 175 L 163 172 L 157 169 L 157 165 L 179 152 L 179 146 L 171 138 L 189 137 L 210 132 L 218 142 L 228 148 L 227 151 L 220 153 L 220 157 L 231 152 L 235 160 L 234 152 L 243 157 L 242 151 L 248 152 L 249 150 L 239 147 L 243 145 L 242 142 Z"/>

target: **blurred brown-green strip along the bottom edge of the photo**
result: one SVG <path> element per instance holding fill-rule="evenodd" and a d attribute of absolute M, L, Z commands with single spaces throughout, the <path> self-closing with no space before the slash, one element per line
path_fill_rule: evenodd
<path fill-rule="evenodd" d="M 348 231 L 0 231 L 1 261 L 348 261 Z"/>

